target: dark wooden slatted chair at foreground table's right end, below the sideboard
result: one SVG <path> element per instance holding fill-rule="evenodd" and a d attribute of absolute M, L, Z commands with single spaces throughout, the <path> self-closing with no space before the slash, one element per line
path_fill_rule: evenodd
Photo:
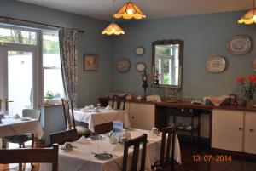
<path fill-rule="evenodd" d="M 167 140 L 166 140 L 167 134 Z M 175 148 L 176 126 L 162 128 L 162 140 L 160 149 L 160 161 L 154 163 L 155 170 L 164 170 L 170 165 L 171 170 L 174 170 L 174 148 Z M 166 145 L 167 141 L 167 145 Z M 171 156 L 171 157 L 170 157 Z"/>

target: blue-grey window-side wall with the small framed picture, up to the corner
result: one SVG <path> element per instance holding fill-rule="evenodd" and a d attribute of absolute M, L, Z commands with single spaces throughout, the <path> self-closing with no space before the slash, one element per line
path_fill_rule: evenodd
<path fill-rule="evenodd" d="M 112 77 L 113 72 L 113 62 L 109 60 L 113 52 L 112 37 L 101 34 L 102 30 L 108 25 L 108 22 L 27 3 L 20 3 L 14 0 L 1 0 L 0 15 L 84 30 L 84 33 L 79 33 L 78 41 L 78 106 L 96 103 L 98 96 L 107 94 L 110 91 L 111 82 L 109 79 Z M 83 71 L 84 54 L 99 55 L 98 71 Z"/>

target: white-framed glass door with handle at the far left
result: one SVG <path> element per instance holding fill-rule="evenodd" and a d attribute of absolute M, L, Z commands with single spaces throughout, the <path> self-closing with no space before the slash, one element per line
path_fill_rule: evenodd
<path fill-rule="evenodd" d="M 33 107 L 33 59 L 36 50 L 26 47 L 1 47 L 1 111 L 10 116 Z"/>

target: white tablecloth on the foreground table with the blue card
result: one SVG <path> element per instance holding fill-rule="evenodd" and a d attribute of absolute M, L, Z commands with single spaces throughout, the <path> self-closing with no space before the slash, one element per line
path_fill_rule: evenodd
<path fill-rule="evenodd" d="M 148 131 L 141 129 L 134 129 L 131 131 L 131 138 L 142 135 L 143 133 L 148 134 Z M 150 137 L 148 134 L 148 144 L 146 152 L 145 168 L 151 171 L 151 165 L 160 159 L 160 140 L 161 137 Z M 176 140 L 175 146 L 175 159 L 181 161 L 180 149 L 178 140 Z M 119 144 L 110 144 L 108 137 L 102 138 L 102 140 L 86 140 L 83 142 L 73 142 L 75 148 L 73 151 L 62 151 L 59 152 L 59 171 L 119 171 L 122 169 L 123 163 L 123 151 L 124 147 Z M 109 152 L 113 154 L 113 158 L 110 160 L 97 160 L 94 157 L 93 152 Z M 131 151 L 129 149 L 128 166 L 131 165 Z M 51 165 L 43 163 L 40 165 L 40 171 L 51 170 Z"/>

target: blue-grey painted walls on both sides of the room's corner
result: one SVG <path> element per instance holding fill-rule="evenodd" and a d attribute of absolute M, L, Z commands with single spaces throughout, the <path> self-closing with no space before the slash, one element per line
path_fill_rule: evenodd
<path fill-rule="evenodd" d="M 66 26 L 84 30 L 79 33 L 79 107 L 96 103 L 97 97 L 112 92 L 142 94 L 140 73 L 136 64 L 143 61 L 151 74 L 151 43 L 161 39 L 181 39 L 184 41 L 183 89 L 186 97 L 239 93 L 236 77 L 240 74 L 253 73 L 253 58 L 256 50 L 249 54 L 233 55 L 226 48 L 231 37 L 247 35 L 256 39 L 255 25 L 238 25 L 236 20 L 244 11 L 199 14 L 186 17 L 173 17 L 160 20 L 139 20 L 121 23 L 125 35 L 108 37 L 101 34 L 108 22 L 69 14 L 55 9 L 48 9 L 14 0 L 1 0 L 0 15 L 25 20 Z M 134 48 L 143 45 L 146 54 L 137 57 Z M 83 71 L 83 54 L 99 54 L 99 70 Z M 222 55 L 227 61 L 227 68 L 222 73 L 206 71 L 207 57 Z M 131 60 L 131 70 L 127 73 L 116 71 L 119 58 Z M 155 93 L 154 89 L 150 89 Z M 168 94 L 168 92 L 167 92 Z"/>

